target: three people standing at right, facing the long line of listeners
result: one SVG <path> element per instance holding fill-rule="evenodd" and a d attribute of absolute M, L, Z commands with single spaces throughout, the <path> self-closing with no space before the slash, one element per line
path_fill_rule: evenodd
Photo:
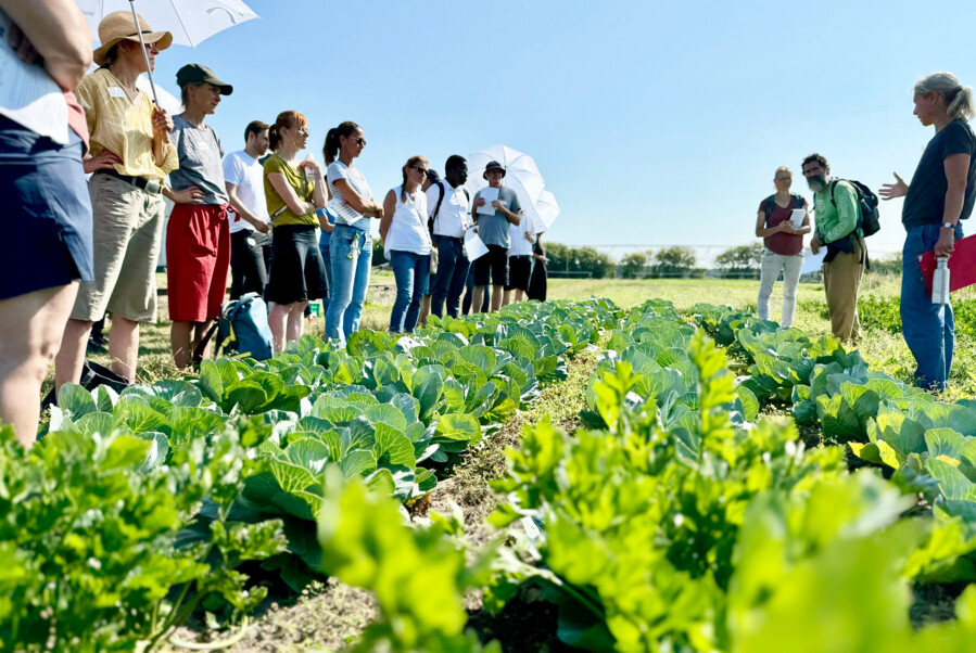
<path fill-rule="evenodd" d="M 915 384 L 945 389 L 952 369 L 955 322 L 951 304 L 934 303 L 918 265 L 920 256 L 935 252 L 949 258 L 962 233 L 962 220 L 976 202 L 976 135 L 969 120 L 976 115 L 973 89 L 950 73 L 935 73 L 914 87 L 914 115 L 935 136 L 922 154 L 911 183 L 898 174 L 884 184 L 883 200 L 904 197 L 901 221 L 907 236 L 902 248 L 901 323 L 905 343 L 917 363 Z M 824 292 L 834 335 L 844 342 L 860 338 L 858 293 L 867 263 L 862 192 L 851 181 L 831 177 L 827 159 L 811 154 L 802 163 L 803 177 L 813 191 L 815 227 L 811 228 L 807 201 L 791 195 L 789 168 L 776 170 L 776 193 L 759 206 L 756 235 L 764 239 L 759 317 L 769 319 L 770 295 L 783 274 L 783 328 L 793 322 L 796 290 L 803 264 L 803 235 L 813 231 L 813 254 L 826 249 Z M 795 209 L 804 212 L 802 223 L 790 221 Z"/>

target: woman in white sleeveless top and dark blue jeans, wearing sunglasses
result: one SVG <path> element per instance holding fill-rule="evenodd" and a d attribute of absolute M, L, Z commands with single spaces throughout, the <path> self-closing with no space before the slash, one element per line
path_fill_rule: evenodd
<path fill-rule="evenodd" d="M 396 302 L 390 315 L 392 333 L 411 333 L 420 317 L 420 298 L 427 293 L 431 240 L 427 228 L 427 159 L 413 156 L 403 167 L 403 184 L 386 193 L 380 238 L 393 276 Z"/>

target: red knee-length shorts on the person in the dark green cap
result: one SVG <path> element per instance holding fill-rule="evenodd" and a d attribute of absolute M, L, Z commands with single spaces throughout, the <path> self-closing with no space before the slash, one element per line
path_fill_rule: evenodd
<path fill-rule="evenodd" d="M 230 269 L 227 206 L 177 204 L 166 228 L 169 319 L 207 322 L 220 313 Z"/>

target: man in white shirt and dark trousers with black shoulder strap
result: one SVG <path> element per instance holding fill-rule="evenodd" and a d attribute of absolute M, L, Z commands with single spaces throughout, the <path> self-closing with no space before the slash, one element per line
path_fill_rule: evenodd
<path fill-rule="evenodd" d="M 446 181 L 427 190 L 433 243 L 440 255 L 430 311 L 439 318 L 443 317 L 446 300 L 447 315 L 456 318 L 471 265 L 464 246 L 465 230 L 471 225 L 471 200 L 461 188 L 468 180 L 468 162 L 458 154 L 452 154 L 444 168 Z"/>

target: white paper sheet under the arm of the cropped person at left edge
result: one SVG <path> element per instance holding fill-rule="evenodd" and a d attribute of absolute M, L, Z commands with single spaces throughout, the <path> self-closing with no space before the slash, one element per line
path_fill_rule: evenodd
<path fill-rule="evenodd" d="M 46 136 L 68 142 L 67 102 L 61 89 L 40 65 L 27 65 L 10 47 L 11 21 L 0 12 L 0 115 Z"/>

